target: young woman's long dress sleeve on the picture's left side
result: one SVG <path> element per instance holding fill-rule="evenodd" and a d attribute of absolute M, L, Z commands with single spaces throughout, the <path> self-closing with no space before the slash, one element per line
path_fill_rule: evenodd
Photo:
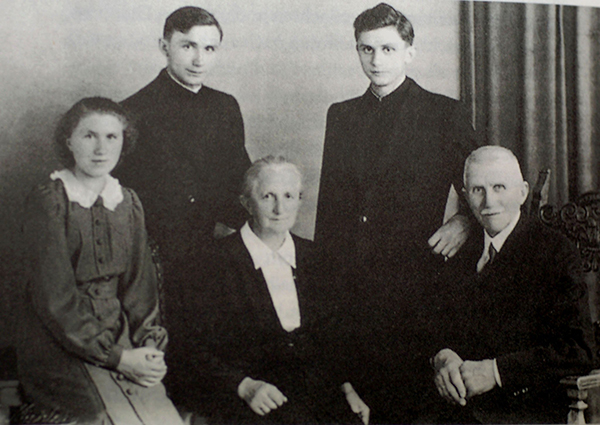
<path fill-rule="evenodd" d="M 26 204 L 29 296 L 41 321 L 67 351 L 114 368 L 122 352 L 115 343 L 118 329 L 102 323 L 91 299 L 77 289 L 66 240 L 68 201 L 55 187 L 39 187 Z"/>

